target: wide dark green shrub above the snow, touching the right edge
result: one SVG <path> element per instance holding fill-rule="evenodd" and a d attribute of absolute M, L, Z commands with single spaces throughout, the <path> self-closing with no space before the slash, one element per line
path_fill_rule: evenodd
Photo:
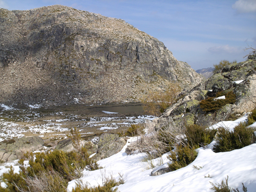
<path fill-rule="evenodd" d="M 252 128 L 247 122 L 241 122 L 233 131 L 220 127 L 217 132 L 214 152 L 229 152 L 245 147 L 255 142 L 256 138 Z"/>

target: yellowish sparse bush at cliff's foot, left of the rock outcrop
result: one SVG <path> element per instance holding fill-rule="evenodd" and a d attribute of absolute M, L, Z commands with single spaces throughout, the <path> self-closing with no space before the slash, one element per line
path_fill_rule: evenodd
<path fill-rule="evenodd" d="M 178 84 L 169 83 L 166 91 L 151 91 L 141 99 L 146 114 L 159 116 L 178 98 L 181 89 Z"/>

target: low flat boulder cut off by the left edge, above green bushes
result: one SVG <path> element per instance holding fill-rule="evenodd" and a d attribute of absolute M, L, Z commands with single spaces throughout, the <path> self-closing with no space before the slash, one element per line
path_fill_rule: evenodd
<path fill-rule="evenodd" d="M 0 142 L 0 160 L 13 161 L 26 152 L 44 149 L 44 140 L 38 136 L 14 138 Z"/>

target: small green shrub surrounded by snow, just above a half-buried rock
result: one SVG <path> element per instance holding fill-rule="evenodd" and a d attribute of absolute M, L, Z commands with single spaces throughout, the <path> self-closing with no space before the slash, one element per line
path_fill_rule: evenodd
<path fill-rule="evenodd" d="M 170 171 L 177 170 L 179 168 L 185 167 L 191 162 L 193 162 L 197 157 L 197 152 L 195 147 L 176 145 L 176 150 L 170 152 L 167 157 L 172 163 L 168 164 Z"/>

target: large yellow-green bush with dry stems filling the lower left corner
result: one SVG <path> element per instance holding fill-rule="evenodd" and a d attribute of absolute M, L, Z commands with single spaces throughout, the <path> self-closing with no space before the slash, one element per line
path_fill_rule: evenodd
<path fill-rule="evenodd" d="M 98 164 L 89 158 L 87 148 L 81 143 L 78 131 L 71 132 L 76 151 L 63 152 L 54 150 L 46 153 L 27 153 L 29 166 L 24 159 L 19 160 L 19 174 L 13 172 L 3 174 L 6 191 L 66 191 L 68 182 L 82 176 L 82 170 L 98 169 Z M 1 188 L 0 188 L 1 189 Z"/>

